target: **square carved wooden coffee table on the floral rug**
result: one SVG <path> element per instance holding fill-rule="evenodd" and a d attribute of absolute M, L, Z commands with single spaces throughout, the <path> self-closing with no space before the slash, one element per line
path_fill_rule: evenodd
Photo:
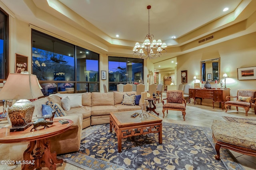
<path fill-rule="evenodd" d="M 134 110 L 110 113 L 110 132 L 112 132 L 112 127 L 116 131 L 118 152 L 122 151 L 122 139 L 127 137 L 158 133 L 158 142 L 159 144 L 162 143 L 162 119 L 151 114 L 148 119 L 145 117 L 140 119 L 140 115 L 131 117 L 135 112 L 141 113 L 142 111 Z"/>

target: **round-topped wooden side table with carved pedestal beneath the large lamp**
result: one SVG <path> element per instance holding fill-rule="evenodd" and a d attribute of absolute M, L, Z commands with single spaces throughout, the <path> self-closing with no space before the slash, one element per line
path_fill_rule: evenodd
<path fill-rule="evenodd" d="M 30 132 L 33 126 L 28 127 L 24 131 L 10 132 L 10 129 L 0 129 L 0 143 L 18 143 L 29 141 L 28 148 L 23 153 L 23 160 L 29 162 L 22 164 L 22 170 L 39 170 L 42 167 L 47 167 L 50 170 L 56 169 L 56 164 L 62 163 L 62 159 L 56 157 L 56 152 L 51 152 L 50 141 L 46 138 L 58 135 L 68 130 L 73 121 L 68 120 L 69 123 L 60 124 L 59 119 L 53 119 L 54 123 L 44 129 L 39 126 L 37 130 Z M 11 126 L 10 126 L 11 127 Z"/>

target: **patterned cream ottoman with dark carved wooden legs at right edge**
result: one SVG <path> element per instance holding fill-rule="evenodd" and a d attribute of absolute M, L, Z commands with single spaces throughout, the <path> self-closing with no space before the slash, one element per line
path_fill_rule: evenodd
<path fill-rule="evenodd" d="M 216 142 L 216 160 L 220 160 L 220 147 L 242 154 L 256 156 L 256 125 L 214 120 L 212 137 Z"/>

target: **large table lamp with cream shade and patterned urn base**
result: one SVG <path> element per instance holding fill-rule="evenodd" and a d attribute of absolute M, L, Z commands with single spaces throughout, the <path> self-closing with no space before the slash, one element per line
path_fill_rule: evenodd
<path fill-rule="evenodd" d="M 0 100 L 18 100 L 8 110 L 12 123 L 10 132 L 24 131 L 30 124 L 34 112 L 34 104 L 30 99 L 44 96 L 34 74 L 10 73 L 6 83 L 0 91 Z"/>

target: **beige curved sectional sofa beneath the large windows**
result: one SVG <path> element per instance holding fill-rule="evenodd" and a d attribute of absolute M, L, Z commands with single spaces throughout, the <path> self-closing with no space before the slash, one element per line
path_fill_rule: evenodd
<path fill-rule="evenodd" d="M 71 119 L 74 121 L 74 124 L 68 131 L 50 137 L 49 139 L 51 142 L 51 150 L 56 151 L 57 154 L 76 152 L 80 148 L 82 129 L 90 125 L 109 123 L 110 112 L 141 109 L 141 104 L 135 106 L 122 105 L 124 94 L 136 95 L 136 92 L 52 94 L 32 102 L 35 105 L 32 120 L 37 120 L 38 117 L 42 117 L 42 104 L 51 101 L 64 107 L 62 98 L 68 96 L 71 103 L 77 103 L 77 107 L 71 106 L 70 110 L 63 109 L 66 116 L 61 118 Z M 26 149 L 27 145 L 28 143 L 26 142 L 20 143 L 19 145 L 10 144 L 11 160 L 21 160 L 23 151 Z M 17 148 L 19 152 L 17 152 Z"/>

